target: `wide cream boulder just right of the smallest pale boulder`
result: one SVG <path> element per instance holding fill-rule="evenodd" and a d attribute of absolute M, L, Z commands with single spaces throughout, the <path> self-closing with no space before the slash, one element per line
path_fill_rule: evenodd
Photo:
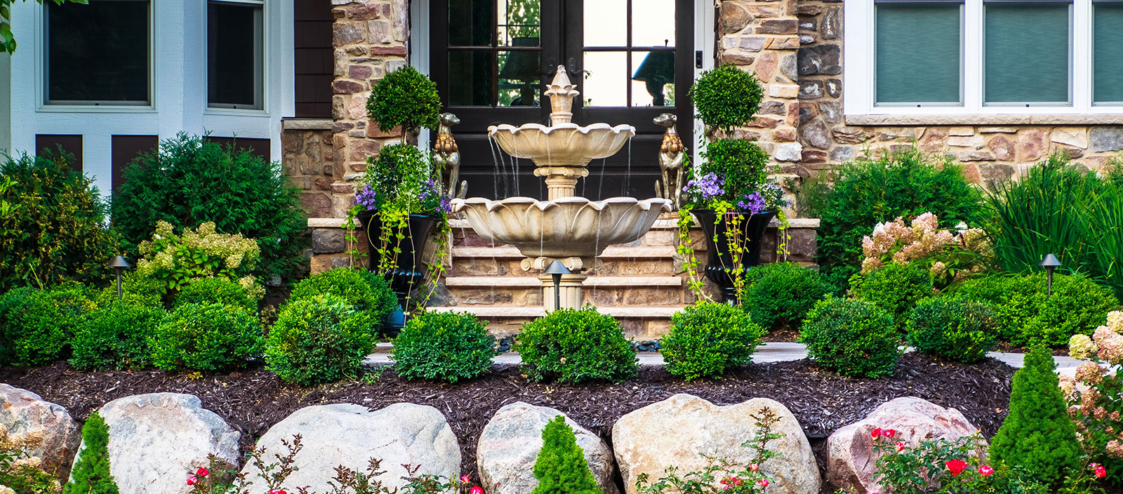
<path fill-rule="evenodd" d="M 819 467 L 795 415 L 783 404 L 756 397 L 734 405 L 718 406 L 697 396 L 676 394 L 624 417 L 612 427 L 612 447 L 624 479 L 627 494 L 636 494 L 636 479 L 648 474 L 654 481 L 668 466 L 679 474 L 702 470 L 709 461 L 702 455 L 725 457 L 746 467 L 750 448 L 741 443 L 757 433 L 754 418 L 772 409 L 779 421 L 773 431 L 783 438 L 768 442 L 782 456 L 769 459 L 760 470 L 773 479 L 768 494 L 818 494 Z"/>

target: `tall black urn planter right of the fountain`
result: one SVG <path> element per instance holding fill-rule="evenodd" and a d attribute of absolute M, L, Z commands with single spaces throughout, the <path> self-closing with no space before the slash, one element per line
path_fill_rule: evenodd
<path fill-rule="evenodd" d="M 709 209 L 695 209 L 691 211 L 699 220 L 702 232 L 705 234 L 706 265 L 705 277 L 721 289 L 722 300 L 725 302 L 737 302 L 737 287 L 733 283 L 732 273 L 727 268 L 733 267 L 733 254 L 729 249 L 729 222 L 718 221 L 718 212 Z M 741 256 L 741 265 L 746 271 L 760 264 L 760 239 L 768 228 L 768 222 L 776 218 L 776 211 L 765 211 L 760 213 L 730 212 L 728 216 L 741 217 L 740 238 L 745 254 Z M 714 238 L 716 237 L 716 241 Z"/>

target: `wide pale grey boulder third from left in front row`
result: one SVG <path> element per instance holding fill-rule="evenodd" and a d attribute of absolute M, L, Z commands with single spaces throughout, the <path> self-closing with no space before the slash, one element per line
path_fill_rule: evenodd
<path fill-rule="evenodd" d="M 418 474 L 453 477 L 460 469 L 460 446 L 445 415 L 432 406 L 396 403 L 372 412 L 349 403 L 305 406 L 273 426 L 257 441 L 264 458 L 284 456 L 281 441 L 301 436 L 296 455 L 300 468 L 282 485 L 287 492 L 307 486 L 310 492 L 330 491 L 336 467 L 366 472 L 371 458 L 382 460 L 385 474 L 377 477 L 391 491 L 407 484 L 403 465 Z M 265 485 L 257 468 L 247 463 L 241 470 L 254 485 Z"/>

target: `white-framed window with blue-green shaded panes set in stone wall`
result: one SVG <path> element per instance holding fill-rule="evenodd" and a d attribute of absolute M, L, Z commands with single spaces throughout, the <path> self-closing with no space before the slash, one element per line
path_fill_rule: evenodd
<path fill-rule="evenodd" d="M 847 115 L 1123 112 L 1123 1 L 846 2 Z"/>

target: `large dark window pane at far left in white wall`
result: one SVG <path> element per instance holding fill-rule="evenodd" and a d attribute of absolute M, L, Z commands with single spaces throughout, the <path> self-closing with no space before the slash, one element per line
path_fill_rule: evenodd
<path fill-rule="evenodd" d="M 148 102 L 148 1 L 47 2 L 47 102 Z"/>

